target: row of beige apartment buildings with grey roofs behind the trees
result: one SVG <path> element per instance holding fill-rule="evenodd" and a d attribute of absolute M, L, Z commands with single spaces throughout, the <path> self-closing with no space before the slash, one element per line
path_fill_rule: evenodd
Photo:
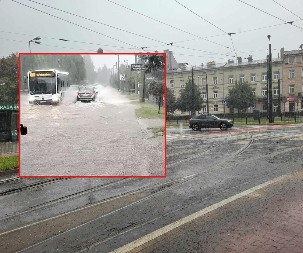
<path fill-rule="evenodd" d="M 298 50 L 284 51 L 281 48 L 277 58 L 272 57 L 272 89 L 273 89 L 273 112 L 278 112 L 279 90 L 278 80 L 280 71 L 280 97 L 281 112 L 284 110 L 282 97 L 287 97 L 285 111 L 303 109 L 303 53 L 302 46 Z M 176 97 L 184 88 L 186 80 L 191 79 L 191 66 L 179 63 L 173 57 L 173 52 L 169 51 L 170 62 L 174 62 L 175 68 L 166 72 L 166 86 L 173 90 Z M 230 113 L 237 112 L 237 109 L 228 108 L 222 105 L 222 100 L 226 98 L 228 91 L 234 86 L 235 81 L 248 81 L 257 97 L 256 109 L 260 112 L 267 112 L 267 60 L 253 59 L 242 61 L 228 60 L 227 63 L 208 62 L 193 67 L 194 81 L 199 86 L 203 97 L 203 107 L 199 112 L 206 112 L 206 75 L 208 82 L 209 112 Z M 205 74 L 206 72 L 206 74 Z M 243 98 L 245 99 L 245 97 Z M 228 102 L 227 102 L 228 103 Z M 253 108 L 247 108 L 252 112 Z M 199 113 L 196 112 L 196 113 Z M 189 112 L 176 111 L 176 116 L 189 115 Z"/>

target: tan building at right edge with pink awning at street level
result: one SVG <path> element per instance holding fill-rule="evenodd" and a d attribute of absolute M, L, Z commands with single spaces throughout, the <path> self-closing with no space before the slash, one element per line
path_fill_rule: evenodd
<path fill-rule="evenodd" d="M 298 50 L 284 51 L 284 48 L 280 50 L 280 56 L 283 58 L 283 95 L 287 97 L 286 112 L 303 109 L 302 46 Z"/>

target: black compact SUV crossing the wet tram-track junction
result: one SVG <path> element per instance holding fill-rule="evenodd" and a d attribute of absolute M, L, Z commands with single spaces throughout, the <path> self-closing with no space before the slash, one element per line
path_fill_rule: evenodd
<path fill-rule="evenodd" d="M 233 121 L 229 119 L 220 119 L 211 113 L 200 114 L 192 117 L 189 120 L 188 127 L 197 131 L 201 128 L 220 128 L 221 130 L 227 130 L 227 128 L 233 127 Z"/>

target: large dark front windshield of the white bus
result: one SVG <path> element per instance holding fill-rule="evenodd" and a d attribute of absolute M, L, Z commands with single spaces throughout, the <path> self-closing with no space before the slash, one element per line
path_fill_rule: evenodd
<path fill-rule="evenodd" d="M 56 94 L 55 77 L 30 77 L 30 94 Z"/>

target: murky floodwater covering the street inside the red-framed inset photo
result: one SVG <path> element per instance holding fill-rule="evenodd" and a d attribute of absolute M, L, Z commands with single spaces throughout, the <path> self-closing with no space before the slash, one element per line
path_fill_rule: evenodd
<path fill-rule="evenodd" d="M 143 130 L 134 105 L 111 87 L 99 86 L 96 101 L 66 93 L 59 106 L 30 105 L 21 96 L 21 175 L 164 175 L 164 138 Z M 164 120 L 163 120 L 164 127 Z"/>

